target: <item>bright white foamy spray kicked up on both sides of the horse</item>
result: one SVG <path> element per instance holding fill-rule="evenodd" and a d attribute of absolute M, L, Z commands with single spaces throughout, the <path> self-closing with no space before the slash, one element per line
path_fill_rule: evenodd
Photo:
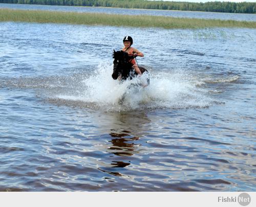
<path fill-rule="evenodd" d="M 190 108 L 207 107 L 212 100 L 207 90 L 199 88 L 197 82 L 183 71 L 174 73 L 151 73 L 151 84 L 147 87 L 129 85 L 145 82 L 147 75 L 124 81 L 113 80 L 113 65 L 99 64 L 90 76 L 84 77 L 83 90 L 79 94 L 57 94 L 55 98 L 80 101 L 97 105 L 106 110 L 131 110 L 138 108 Z M 200 81 L 200 79 L 198 80 Z M 120 99 L 124 96 L 120 105 Z"/>

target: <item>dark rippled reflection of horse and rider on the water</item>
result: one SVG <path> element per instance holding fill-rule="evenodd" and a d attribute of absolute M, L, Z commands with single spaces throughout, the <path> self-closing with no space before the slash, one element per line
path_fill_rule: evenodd
<path fill-rule="evenodd" d="M 101 114 L 97 123 L 98 128 L 102 130 L 102 133 L 110 130 L 106 136 L 107 142 L 110 143 L 106 148 L 106 151 L 110 153 L 106 163 L 110 165 L 98 167 L 98 170 L 110 175 L 126 177 L 125 168 L 133 164 L 134 158 L 132 157 L 139 153 L 141 146 L 139 141 L 147 133 L 145 126 L 150 122 L 151 120 L 144 112 Z"/>

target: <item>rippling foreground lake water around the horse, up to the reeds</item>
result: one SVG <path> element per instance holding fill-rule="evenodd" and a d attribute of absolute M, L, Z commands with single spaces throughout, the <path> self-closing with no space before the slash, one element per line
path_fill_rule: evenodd
<path fill-rule="evenodd" d="M 119 105 L 125 35 L 151 85 Z M 255 48 L 255 29 L 0 22 L 0 190 L 255 191 Z"/>

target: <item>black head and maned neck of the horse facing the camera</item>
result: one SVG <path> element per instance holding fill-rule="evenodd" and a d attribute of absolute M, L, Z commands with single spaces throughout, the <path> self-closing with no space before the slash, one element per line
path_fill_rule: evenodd
<path fill-rule="evenodd" d="M 113 68 L 113 74 L 112 78 L 116 80 L 119 75 L 128 76 L 131 68 L 132 63 L 130 60 L 132 59 L 131 56 L 128 55 L 128 53 L 123 51 L 115 51 L 113 52 L 113 58 L 114 58 L 114 68 Z"/>

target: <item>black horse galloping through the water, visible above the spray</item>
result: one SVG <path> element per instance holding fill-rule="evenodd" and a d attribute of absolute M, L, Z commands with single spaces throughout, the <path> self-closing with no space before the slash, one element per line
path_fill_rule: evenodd
<path fill-rule="evenodd" d="M 126 79 L 133 79 L 136 77 L 138 74 L 133 68 L 133 64 L 130 62 L 131 59 L 135 58 L 133 56 L 129 56 L 128 53 L 123 52 L 123 51 L 115 51 L 113 53 L 113 58 L 114 58 L 114 68 L 113 68 L 113 74 L 112 78 L 116 80 L 118 76 L 121 75 L 121 80 L 126 80 Z M 139 67 L 141 74 L 148 71 L 144 67 Z M 148 73 L 149 74 L 149 73 Z M 150 78 L 148 76 L 147 78 L 147 85 L 150 84 Z"/>

